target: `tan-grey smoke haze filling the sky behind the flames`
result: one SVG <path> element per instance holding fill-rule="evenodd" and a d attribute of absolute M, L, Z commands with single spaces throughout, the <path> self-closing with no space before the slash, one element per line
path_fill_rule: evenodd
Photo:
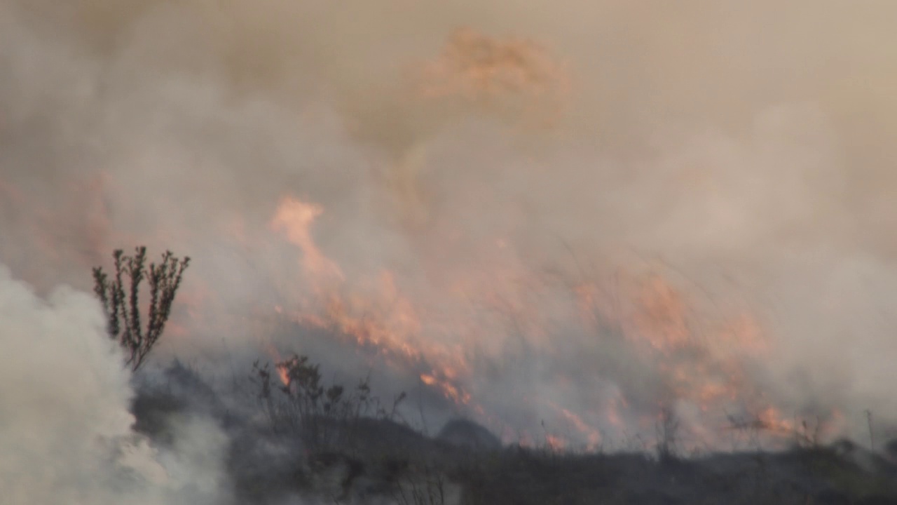
<path fill-rule="evenodd" d="M 311 232 L 347 286 L 388 270 L 431 326 L 475 327 L 421 343 L 460 347 L 466 387 L 527 428 L 549 415 L 531 397 L 585 415 L 675 394 L 662 360 L 583 332 L 540 280 L 663 262 L 696 317 L 755 315 L 755 394 L 895 419 L 895 10 L 2 0 L 0 259 L 43 292 L 87 288 L 115 247 L 188 254 L 190 310 L 162 351 L 252 354 L 257 328 L 227 315 L 315 295 L 269 226 L 295 197 L 323 209 Z M 459 27 L 537 40 L 558 117 L 419 97 Z"/>

